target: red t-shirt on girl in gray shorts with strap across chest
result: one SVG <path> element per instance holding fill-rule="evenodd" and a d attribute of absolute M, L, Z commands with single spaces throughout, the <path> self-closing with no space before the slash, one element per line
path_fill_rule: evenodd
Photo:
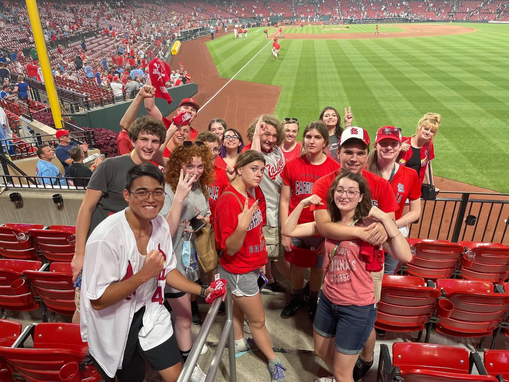
<path fill-rule="evenodd" d="M 237 195 L 238 200 L 231 194 L 225 194 L 227 191 Z M 247 206 L 250 208 L 256 200 L 249 193 L 247 196 L 249 198 Z M 231 184 L 224 189 L 223 194 L 217 200 L 214 213 L 214 232 L 218 249 L 226 250 L 226 240 L 237 229 L 239 214 L 244 208 L 245 201 L 246 198 L 237 192 Z M 233 256 L 224 253 L 219 259 L 219 263 L 224 269 L 237 275 L 246 274 L 267 263 L 267 249 L 265 248 L 260 208 L 254 211 L 240 250 Z"/>

